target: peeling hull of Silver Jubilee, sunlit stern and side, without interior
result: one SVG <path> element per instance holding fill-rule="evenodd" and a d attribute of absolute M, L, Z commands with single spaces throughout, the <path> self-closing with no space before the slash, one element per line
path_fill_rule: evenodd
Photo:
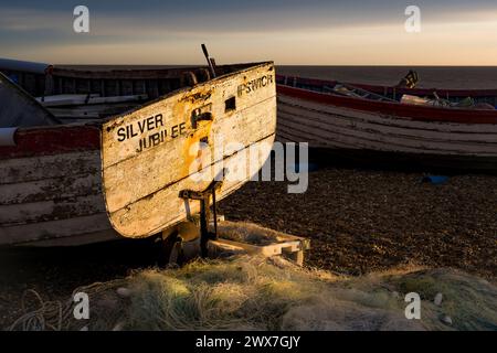
<path fill-rule="evenodd" d="M 271 85 L 251 95 L 240 90 L 264 75 L 272 77 Z M 205 106 L 211 120 L 194 121 L 193 110 Z M 160 129 L 149 127 L 140 133 L 128 130 L 120 140 L 120 127 L 137 128 L 159 115 L 167 133 L 157 138 Z M 0 245 L 77 244 L 160 233 L 199 211 L 199 202 L 186 202 L 179 192 L 200 191 L 212 179 L 192 176 L 210 174 L 220 164 L 233 171 L 246 162 L 241 158 L 245 149 L 260 146 L 253 165 L 257 172 L 271 152 L 275 129 L 272 63 L 183 88 L 104 121 L 19 128 L 15 146 L 0 146 Z M 218 153 L 211 142 L 223 136 L 241 147 Z M 148 146 L 140 145 L 144 139 Z M 197 146 L 200 141 L 207 142 L 205 150 Z M 216 199 L 251 176 L 228 178 Z"/>

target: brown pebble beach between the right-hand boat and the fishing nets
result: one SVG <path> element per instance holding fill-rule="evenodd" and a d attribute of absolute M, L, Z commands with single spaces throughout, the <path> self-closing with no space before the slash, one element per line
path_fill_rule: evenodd
<path fill-rule="evenodd" d="M 326 270 L 374 271 L 396 266 L 401 259 L 451 267 L 454 254 L 465 253 L 457 268 L 476 270 L 482 277 L 496 274 L 495 266 L 484 259 L 486 249 L 496 249 L 488 239 L 495 238 L 497 226 L 497 178 L 458 175 L 433 189 L 419 185 L 421 172 L 334 168 L 326 160 L 322 164 L 309 173 L 305 194 L 288 194 L 282 182 L 250 182 L 220 202 L 220 213 L 310 237 L 313 250 L 306 263 Z M 454 207 L 462 200 L 473 206 Z M 469 218 L 478 223 L 472 242 L 456 226 L 457 220 Z M 445 231 L 443 235 L 440 229 Z M 361 234 L 366 236 L 360 238 Z M 388 256 L 373 253 L 372 244 L 381 245 Z"/>

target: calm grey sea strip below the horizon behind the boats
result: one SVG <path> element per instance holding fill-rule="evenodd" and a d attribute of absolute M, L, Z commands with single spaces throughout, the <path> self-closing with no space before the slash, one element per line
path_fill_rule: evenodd
<path fill-rule="evenodd" d="M 66 67 L 109 68 L 166 68 L 186 65 L 61 65 Z M 420 76 L 420 87 L 425 88 L 497 88 L 497 66 L 277 66 L 282 75 L 337 79 L 372 85 L 395 85 L 414 69 Z"/>

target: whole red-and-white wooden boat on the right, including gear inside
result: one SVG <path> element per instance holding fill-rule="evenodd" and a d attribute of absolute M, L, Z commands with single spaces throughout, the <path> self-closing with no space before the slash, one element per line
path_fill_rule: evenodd
<path fill-rule="evenodd" d="M 404 104 L 404 95 L 453 104 Z M 410 89 L 277 76 L 277 139 L 308 142 L 327 158 L 497 171 L 497 89 Z M 457 107 L 467 97 L 475 106 Z"/>

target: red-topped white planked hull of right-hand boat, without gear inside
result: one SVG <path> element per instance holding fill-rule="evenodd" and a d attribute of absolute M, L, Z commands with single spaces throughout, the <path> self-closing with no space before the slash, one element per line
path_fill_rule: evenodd
<path fill-rule="evenodd" d="M 355 159 L 381 156 L 390 163 L 497 170 L 491 110 L 406 107 L 278 86 L 277 138 Z"/>

